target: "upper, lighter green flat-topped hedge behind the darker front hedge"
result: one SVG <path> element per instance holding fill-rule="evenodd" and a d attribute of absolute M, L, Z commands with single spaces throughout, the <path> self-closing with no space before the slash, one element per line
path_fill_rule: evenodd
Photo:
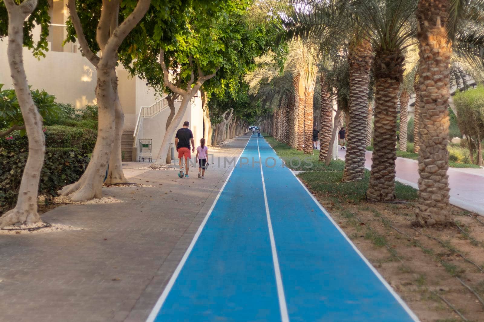
<path fill-rule="evenodd" d="M 45 147 L 76 148 L 83 154 L 91 153 L 97 139 L 97 131 L 90 128 L 72 126 L 44 126 Z M 21 136 L 20 131 L 12 132 L 12 139 L 0 138 L 0 148 L 9 151 L 26 150 L 29 147 L 27 135 Z"/>

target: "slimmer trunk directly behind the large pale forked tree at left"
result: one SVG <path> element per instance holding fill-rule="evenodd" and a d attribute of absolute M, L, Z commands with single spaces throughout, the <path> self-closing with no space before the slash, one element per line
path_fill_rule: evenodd
<path fill-rule="evenodd" d="M 121 101 L 118 95 L 118 77 L 116 76 L 116 70 L 113 70 L 113 83 L 116 88 L 116 100 L 114 102 L 114 114 L 116 117 L 115 132 L 114 132 L 114 144 L 109 158 L 109 168 L 107 173 L 105 184 L 114 184 L 128 182 L 122 170 L 122 156 L 121 156 L 121 137 L 124 129 L 124 112 L 122 112 Z"/>

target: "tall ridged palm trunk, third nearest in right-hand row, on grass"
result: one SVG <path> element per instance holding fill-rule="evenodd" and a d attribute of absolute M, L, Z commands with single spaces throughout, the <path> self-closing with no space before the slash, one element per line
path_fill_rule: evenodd
<path fill-rule="evenodd" d="M 345 157 L 343 181 L 358 181 L 364 178 L 364 156 L 366 152 L 366 126 L 368 118 L 368 84 L 373 62 L 371 43 L 363 40 L 349 47 L 349 106 L 348 144 Z"/>

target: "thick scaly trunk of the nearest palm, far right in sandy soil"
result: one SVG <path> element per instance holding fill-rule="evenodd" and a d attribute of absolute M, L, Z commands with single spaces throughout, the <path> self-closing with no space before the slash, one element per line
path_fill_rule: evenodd
<path fill-rule="evenodd" d="M 445 28 L 448 0 L 420 0 L 417 8 L 419 85 L 422 106 L 419 127 L 419 201 L 421 225 L 452 222 L 449 209 L 449 78 L 452 43 Z"/>

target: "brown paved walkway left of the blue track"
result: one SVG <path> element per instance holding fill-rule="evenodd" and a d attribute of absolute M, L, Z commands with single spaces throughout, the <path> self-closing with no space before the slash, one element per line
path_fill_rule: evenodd
<path fill-rule="evenodd" d="M 142 322 L 180 262 L 249 136 L 212 149 L 206 179 L 123 164 L 129 182 L 103 188 L 122 203 L 67 205 L 45 222 L 83 228 L 0 235 L 1 322 Z"/>

